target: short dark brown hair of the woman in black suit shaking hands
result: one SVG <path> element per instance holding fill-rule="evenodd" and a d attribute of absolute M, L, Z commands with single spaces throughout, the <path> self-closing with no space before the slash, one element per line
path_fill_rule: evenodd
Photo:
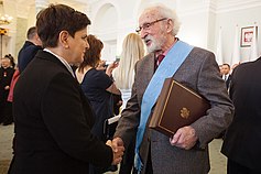
<path fill-rule="evenodd" d="M 67 31 L 74 37 L 77 31 L 90 24 L 88 17 L 65 4 L 51 4 L 36 17 L 37 34 L 43 47 L 57 46 L 58 35 Z"/>

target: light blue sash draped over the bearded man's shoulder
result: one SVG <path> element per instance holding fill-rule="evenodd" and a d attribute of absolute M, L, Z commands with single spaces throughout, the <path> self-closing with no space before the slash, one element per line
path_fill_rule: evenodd
<path fill-rule="evenodd" d="M 138 173 L 141 172 L 143 166 L 139 151 L 143 139 L 146 121 L 151 113 L 151 109 L 154 106 L 161 93 L 165 78 L 172 77 L 176 73 L 176 70 L 186 59 L 187 55 L 191 53 L 192 50 L 193 50 L 192 45 L 188 45 L 187 43 L 182 41 L 177 41 L 161 62 L 160 66 L 157 67 L 150 84 L 145 89 L 141 102 L 141 118 L 140 118 L 140 124 L 138 127 L 137 142 L 135 142 L 134 166 L 138 170 Z"/>

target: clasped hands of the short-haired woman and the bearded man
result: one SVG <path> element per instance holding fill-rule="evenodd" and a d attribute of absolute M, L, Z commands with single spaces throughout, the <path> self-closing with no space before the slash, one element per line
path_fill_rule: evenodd
<path fill-rule="evenodd" d="M 122 160 L 122 155 L 124 154 L 126 150 L 123 146 L 123 141 L 121 140 L 121 138 L 115 138 L 112 141 L 108 140 L 106 144 L 109 145 L 113 152 L 113 161 L 111 165 L 119 164 Z"/>

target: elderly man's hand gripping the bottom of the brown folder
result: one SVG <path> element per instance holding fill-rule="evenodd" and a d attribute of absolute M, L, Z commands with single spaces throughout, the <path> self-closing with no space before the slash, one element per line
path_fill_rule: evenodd
<path fill-rule="evenodd" d="M 188 126 L 180 128 L 173 138 L 170 139 L 170 142 L 172 145 L 189 150 L 196 144 L 197 140 L 195 129 Z"/>

